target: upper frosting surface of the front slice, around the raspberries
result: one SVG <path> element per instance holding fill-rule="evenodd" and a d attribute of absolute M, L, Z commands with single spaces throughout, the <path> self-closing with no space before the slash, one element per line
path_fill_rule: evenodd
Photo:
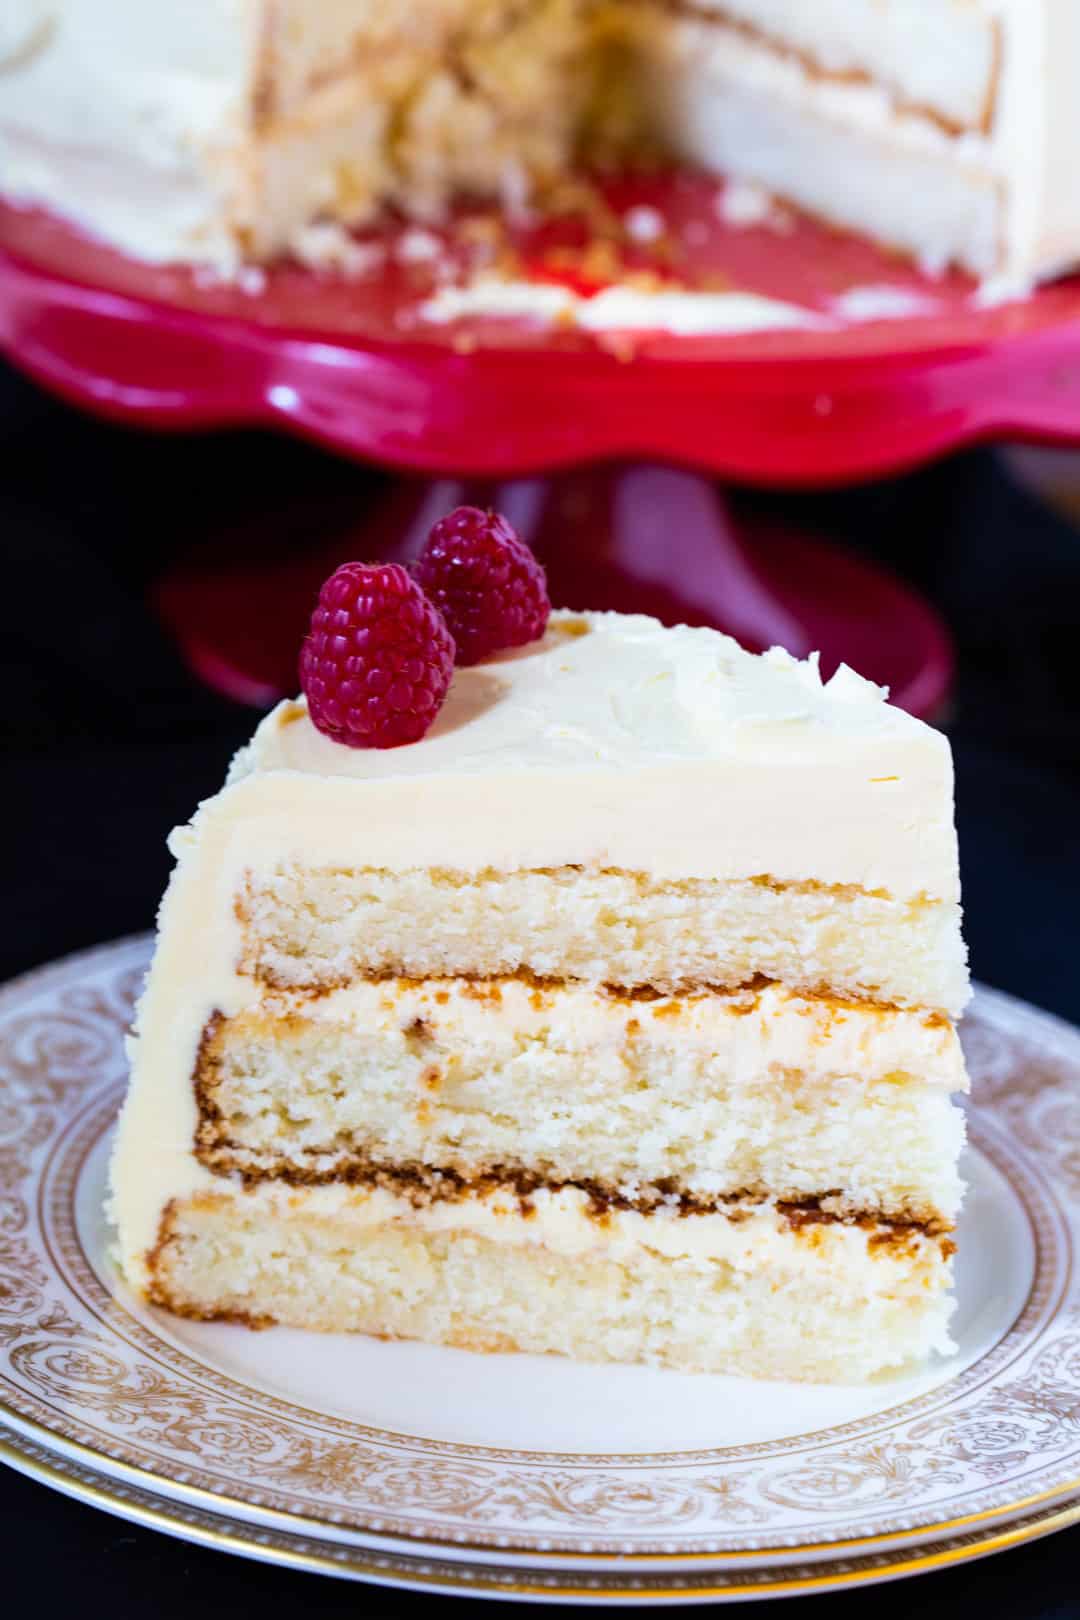
<path fill-rule="evenodd" d="M 317 776 L 426 776 L 772 758 L 845 748 L 858 737 L 921 734 L 887 692 L 847 666 L 821 679 L 818 654 L 746 653 L 717 630 L 625 614 L 552 614 L 542 640 L 458 669 L 431 732 L 408 748 L 347 750 L 277 708 L 238 761 Z"/>

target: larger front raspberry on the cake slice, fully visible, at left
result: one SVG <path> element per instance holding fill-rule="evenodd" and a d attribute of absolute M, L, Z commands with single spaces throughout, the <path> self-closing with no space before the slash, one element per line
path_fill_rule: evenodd
<path fill-rule="evenodd" d="M 350 748 L 419 742 L 453 674 L 453 637 L 397 562 L 345 562 L 300 653 L 313 724 Z"/>

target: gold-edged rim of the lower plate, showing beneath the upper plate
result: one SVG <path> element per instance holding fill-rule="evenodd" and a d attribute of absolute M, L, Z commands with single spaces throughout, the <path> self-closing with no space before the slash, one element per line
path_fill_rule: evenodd
<path fill-rule="evenodd" d="M 641 1604 L 643 1607 L 740 1602 L 758 1597 L 798 1597 L 853 1589 L 972 1563 L 1044 1536 L 1080 1524 L 1080 1498 L 1061 1502 L 989 1533 L 967 1531 L 920 1542 L 904 1550 L 832 1557 L 818 1563 L 716 1567 L 698 1570 L 638 1571 L 636 1568 L 581 1570 L 460 1563 L 402 1550 L 327 1544 L 274 1526 L 240 1523 L 227 1516 L 157 1497 L 94 1469 L 58 1458 L 16 1435 L 0 1437 L 0 1461 L 63 1495 L 117 1515 L 128 1523 L 189 1541 L 215 1552 L 256 1558 L 285 1568 L 332 1575 L 338 1580 L 518 1602 Z M 789 1554 L 798 1558 L 798 1550 Z"/>

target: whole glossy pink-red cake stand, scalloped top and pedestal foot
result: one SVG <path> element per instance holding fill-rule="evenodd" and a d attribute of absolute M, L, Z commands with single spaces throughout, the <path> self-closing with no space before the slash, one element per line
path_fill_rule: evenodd
<path fill-rule="evenodd" d="M 400 471 L 474 481 L 405 486 L 363 525 L 338 522 L 272 567 L 243 562 L 222 538 L 212 562 L 196 556 L 162 580 L 160 609 L 189 661 L 232 697 L 293 688 L 313 593 L 335 561 L 406 556 L 427 517 L 471 496 L 512 509 L 555 599 L 648 606 L 755 646 L 821 648 L 826 671 L 847 659 L 933 713 L 950 676 L 933 612 L 821 543 L 743 531 L 701 475 L 823 486 L 994 437 L 1075 442 L 1080 280 L 994 306 L 962 277 L 928 280 L 810 222 L 725 224 L 721 191 L 687 173 L 607 185 L 607 222 L 638 227 L 620 241 L 622 272 L 779 300 L 805 313 L 805 327 L 432 324 L 423 309 L 436 267 L 468 275 L 491 251 L 481 215 L 455 220 L 434 254 L 387 224 L 364 238 L 379 262 L 358 279 L 283 264 L 254 287 L 223 287 L 0 207 L 0 347 L 65 399 L 142 428 L 272 426 Z M 525 224 L 500 253 L 512 249 L 515 279 L 588 298 L 601 290 L 581 253 L 594 224 Z M 583 471 L 614 458 L 630 465 Z M 236 601 L 243 614 L 230 611 Z"/>

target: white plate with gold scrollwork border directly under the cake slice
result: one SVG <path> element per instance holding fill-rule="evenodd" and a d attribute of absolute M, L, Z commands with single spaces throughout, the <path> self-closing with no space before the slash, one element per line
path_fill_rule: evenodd
<path fill-rule="evenodd" d="M 147 957 L 133 940 L 0 993 L 0 1421 L 16 1466 L 259 1557 L 437 1571 L 421 1584 L 517 1570 L 531 1589 L 546 1571 L 542 1589 L 596 1596 L 635 1580 L 657 1601 L 882 1578 L 1075 1516 L 1078 1032 L 986 990 L 968 1016 L 957 1354 L 863 1388 L 756 1385 L 134 1304 L 102 1197 Z"/>

